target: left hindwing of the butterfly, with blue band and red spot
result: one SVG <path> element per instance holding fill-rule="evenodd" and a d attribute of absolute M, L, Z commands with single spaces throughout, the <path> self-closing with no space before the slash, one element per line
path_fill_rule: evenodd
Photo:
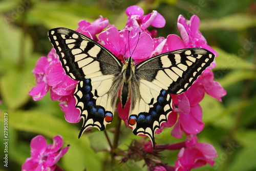
<path fill-rule="evenodd" d="M 80 110 L 83 118 L 79 137 L 87 128 L 94 127 L 103 131 L 106 124 L 111 123 L 120 86 L 118 81 L 112 84 L 113 80 L 115 79 L 108 75 L 86 79 L 77 84 L 74 97 L 76 108 Z"/>

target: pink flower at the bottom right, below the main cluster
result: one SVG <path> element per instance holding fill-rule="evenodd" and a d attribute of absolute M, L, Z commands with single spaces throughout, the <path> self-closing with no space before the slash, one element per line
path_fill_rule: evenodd
<path fill-rule="evenodd" d="M 189 135 L 186 138 L 186 148 L 182 148 L 178 154 L 175 171 L 188 171 L 206 163 L 213 166 L 216 157 L 217 152 L 211 144 L 198 143 L 195 135 Z"/>

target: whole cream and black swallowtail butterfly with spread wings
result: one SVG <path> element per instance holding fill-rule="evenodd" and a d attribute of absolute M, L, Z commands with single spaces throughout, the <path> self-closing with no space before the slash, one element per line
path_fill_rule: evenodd
<path fill-rule="evenodd" d="M 74 92 L 83 124 L 103 131 L 113 120 L 119 98 L 122 108 L 130 100 L 129 126 L 135 135 L 148 136 L 153 147 L 155 132 L 172 112 L 170 94 L 186 91 L 214 61 L 204 48 L 184 48 L 135 64 L 122 63 L 96 41 L 66 28 L 55 28 L 48 37 L 66 74 L 79 81 Z M 139 41 L 139 40 L 138 40 Z"/>

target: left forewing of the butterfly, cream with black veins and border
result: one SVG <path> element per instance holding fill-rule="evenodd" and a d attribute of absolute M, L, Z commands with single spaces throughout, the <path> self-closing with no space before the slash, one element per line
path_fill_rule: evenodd
<path fill-rule="evenodd" d="M 119 74 L 122 63 L 94 40 L 65 28 L 52 29 L 48 36 L 62 67 L 72 79 Z"/>

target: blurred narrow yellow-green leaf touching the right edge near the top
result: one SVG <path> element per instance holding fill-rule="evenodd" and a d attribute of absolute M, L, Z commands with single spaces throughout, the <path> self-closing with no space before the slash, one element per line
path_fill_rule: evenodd
<path fill-rule="evenodd" d="M 201 21 L 200 30 L 244 30 L 256 26 L 256 18 L 248 14 L 232 14 L 220 19 Z"/>

